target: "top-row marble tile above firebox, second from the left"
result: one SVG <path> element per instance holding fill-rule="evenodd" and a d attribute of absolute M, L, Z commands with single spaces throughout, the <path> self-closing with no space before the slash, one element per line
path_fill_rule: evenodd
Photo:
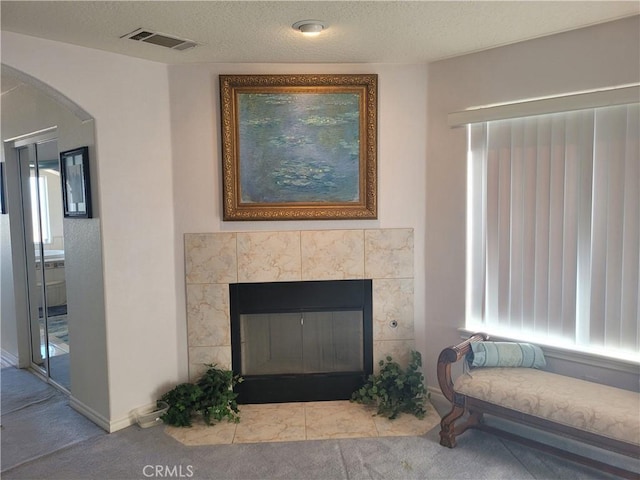
<path fill-rule="evenodd" d="M 301 280 L 299 231 L 237 235 L 238 282 Z"/>

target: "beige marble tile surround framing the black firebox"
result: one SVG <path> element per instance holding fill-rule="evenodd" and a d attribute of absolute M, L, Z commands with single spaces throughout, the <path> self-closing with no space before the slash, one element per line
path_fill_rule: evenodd
<path fill-rule="evenodd" d="M 229 284 L 370 278 L 373 360 L 415 348 L 413 229 L 187 233 L 189 377 L 231 369 Z M 397 326 L 392 326 L 392 321 Z"/>

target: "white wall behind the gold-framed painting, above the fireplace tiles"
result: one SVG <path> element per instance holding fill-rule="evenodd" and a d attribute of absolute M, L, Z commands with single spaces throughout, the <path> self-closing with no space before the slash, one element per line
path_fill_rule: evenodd
<path fill-rule="evenodd" d="M 220 74 L 378 74 L 378 219 L 222 221 Z M 174 155 L 176 270 L 184 264 L 185 233 L 315 229 L 413 228 L 417 347 L 425 351 L 424 237 L 426 65 L 206 64 L 169 67 Z M 186 325 L 183 291 L 178 324 Z M 186 355 L 186 331 L 180 339 Z M 186 375 L 181 364 L 181 374 Z M 431 378 L 435 382 L 435 377 Z"/>

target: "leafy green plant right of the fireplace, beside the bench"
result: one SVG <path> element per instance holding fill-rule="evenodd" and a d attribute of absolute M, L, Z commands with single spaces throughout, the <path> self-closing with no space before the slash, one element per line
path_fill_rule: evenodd
<path fill-rule="evenodd" d="M 380 360 L 380 373 L 369 375 L 364 386 L 351 396 L 352 402 L 374 405 L 378 415 L 393 420 L 399 413 L 411 413 L 424 418 L 424 402 L 429 394 L 424 386 L 424 376 L 420 371 L 422 356 L 411 351 L 411 361 L 406 370 L 390 356 Z"/>

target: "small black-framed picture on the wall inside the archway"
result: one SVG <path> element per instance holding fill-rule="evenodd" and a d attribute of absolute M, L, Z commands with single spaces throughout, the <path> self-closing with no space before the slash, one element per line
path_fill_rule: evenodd
<path fill-rule="evenodd" d="M 91 218 L 89 147 L 80 147 L 60 154 L 60 178 L 64 216 Z"/>

